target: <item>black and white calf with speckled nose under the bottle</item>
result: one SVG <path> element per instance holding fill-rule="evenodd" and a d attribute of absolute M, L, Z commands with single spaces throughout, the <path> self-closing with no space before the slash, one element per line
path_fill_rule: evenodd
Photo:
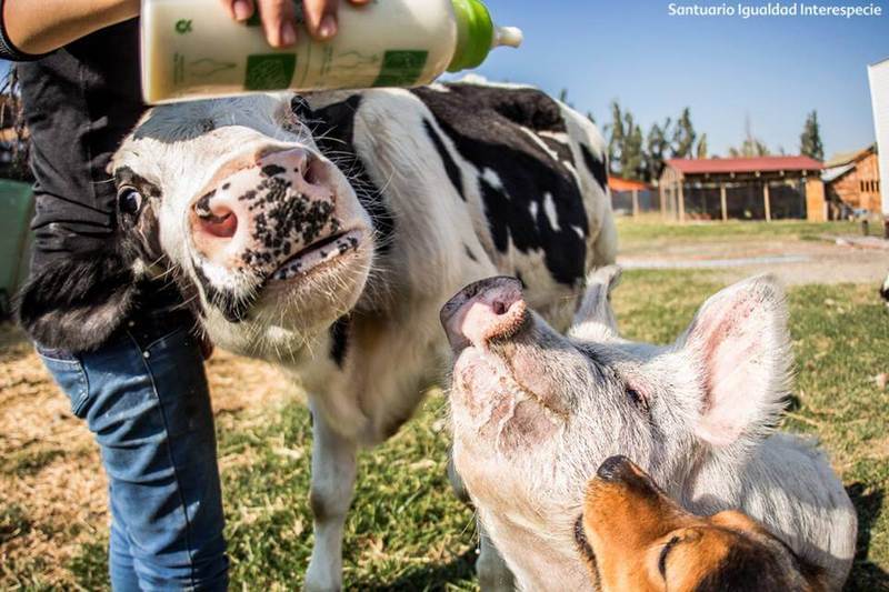
<path fill-rule="evenodd" d="M 157 108 L 112 162 L 118 244 L 52 271 L 67 293 L 26 290 L 20 315 L 47 345 L 94 347 L 136 280 L 172 277 L 214 343 L 298 377 L 314 417 L 307 588 L 338 589 L 357 448 L 444 369 L 442 304 L 515 275 L 563 329 L 587 272 L 615 260 L 603 153 L 586 118 L 530 88 Z"/>

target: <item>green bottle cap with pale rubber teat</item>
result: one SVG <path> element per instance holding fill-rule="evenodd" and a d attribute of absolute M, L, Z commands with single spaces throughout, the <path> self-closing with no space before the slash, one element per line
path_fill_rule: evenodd
<path fill-rule="evenodd" d="M 457 17 L 457 49 L 449 72 L 477 68 L 496 47 L 521 44 L 522 33 L 515 27 L 495 27 L 491 13 L 480 0 L 451 0 Z"/>

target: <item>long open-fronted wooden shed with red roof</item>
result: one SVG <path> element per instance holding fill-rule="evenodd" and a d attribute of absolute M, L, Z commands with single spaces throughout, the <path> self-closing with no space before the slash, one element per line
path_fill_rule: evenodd
<path fill-rule="evenodd" d="M 661 211 L 686 220 L 827 220 L 822 164 L 808 157 L 671 159 Z"/>

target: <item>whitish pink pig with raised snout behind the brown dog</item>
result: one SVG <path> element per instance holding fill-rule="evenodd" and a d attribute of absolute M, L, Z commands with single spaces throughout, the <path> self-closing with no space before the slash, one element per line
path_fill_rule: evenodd
<path fill-rule="evenodd" d="M 855 509 L 811 443 L 770 434 L 790 375 L 781 290 L 768 277 L 730 287 L 659 348 L 618 337 L 616 277 L 591 278 L 567 337 L 512 278 L 473 283 L 441 312 L 457 354 L 453 461 L 520 588 L 591 588 L 575 519 L 599 463 L 626 454 L 695 513 L 742 509 L 839 589 Z"/>

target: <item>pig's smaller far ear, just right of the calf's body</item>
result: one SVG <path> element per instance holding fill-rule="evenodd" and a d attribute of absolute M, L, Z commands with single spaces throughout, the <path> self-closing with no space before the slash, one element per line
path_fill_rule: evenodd
<path fill-rule="evenodd" d="M 587 275 L 587 292 L 568 337 L 599 342 L 619 339 L 618 321 L 611 310 L 611 291 L 620 283 L 620 267 L 608 265 Z"/>

